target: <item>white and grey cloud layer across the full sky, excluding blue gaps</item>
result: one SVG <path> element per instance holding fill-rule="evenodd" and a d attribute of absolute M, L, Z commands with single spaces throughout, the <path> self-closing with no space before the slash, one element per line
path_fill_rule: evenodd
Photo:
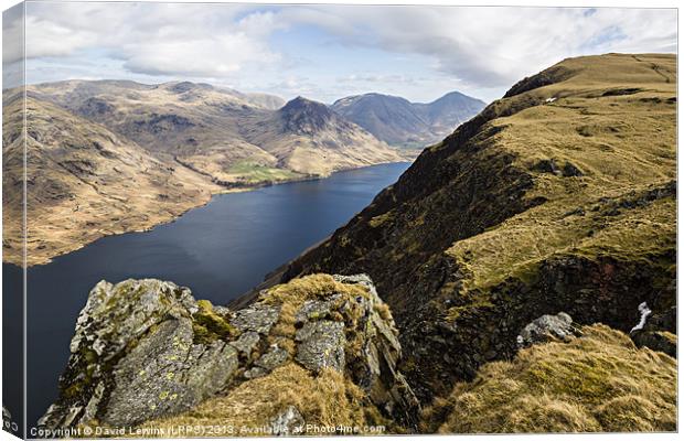
<path fill-rule="evenodd" d="M 28 3 L 28 13 L 31 58 L 99 51 L 133 74 L 229 80 L 269 72 L 270 84 L 303 68 L 301 60 L 316 64 L 303 47 L 274 49 L 278 31 L 307 26 L 323 32 L 328 51 L 340 45 L 412 55 L 407 63 L 425 61 L 423 71 L 435 78 L 473 89 L 507 87 L 568 56 L 676 52 L 677 37 L 674 9 L 39 2 Z M 323 42 L 304 42 L 313 44 Z M 323 68 L 330 76 L 339 66 Z M 378 60 L 375 83 L 402 74 L 382 69 Z M 357 85 L 373 83 L 359 75 Z"/>

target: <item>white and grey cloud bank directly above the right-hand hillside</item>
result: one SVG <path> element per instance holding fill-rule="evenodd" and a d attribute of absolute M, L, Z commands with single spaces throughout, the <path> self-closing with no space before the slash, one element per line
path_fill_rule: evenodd
<path fill-rule="evenodd" d="M 568 56 L 675 52 L 677 36 L 674 9 L 302 7 L 282 17 L 344 44 L 428 56 L 480 87 L 510 85 Z"/>

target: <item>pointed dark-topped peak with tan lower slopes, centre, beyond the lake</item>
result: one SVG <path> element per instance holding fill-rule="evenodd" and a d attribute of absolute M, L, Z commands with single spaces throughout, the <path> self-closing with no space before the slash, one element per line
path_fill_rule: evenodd
<path fill-rule="evenodd" d="M 270 118 L 243 131 L 249 142 L 298 173 L 328 175 L 334 171 L 399 162 L 399 153 L 322 103 L 295 98 Z"/>

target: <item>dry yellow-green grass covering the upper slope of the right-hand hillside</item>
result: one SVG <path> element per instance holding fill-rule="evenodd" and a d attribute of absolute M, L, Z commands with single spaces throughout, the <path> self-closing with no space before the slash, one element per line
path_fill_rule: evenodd
<path fill-rule="evenodd" d="M 605 201 L 619 204 L 676 180 L 675 62 L 648 54 L 570 58 L 558 64 L 573 73 L 564 80 L 492 105 L 505 115 L 537 103 L 492 120 L 500 131 L 489 142 L 532 175 L 524 197 L 546 202 L 447 250 L 470 275 L 466 289 L 528 281 L 554 255 L 635 260 L 674 249 L 673 195 L 610 215 Z M 558 172 L 541 170 L 545 161 Z M 581 175 L 564 174 L 566 163 Z"/>

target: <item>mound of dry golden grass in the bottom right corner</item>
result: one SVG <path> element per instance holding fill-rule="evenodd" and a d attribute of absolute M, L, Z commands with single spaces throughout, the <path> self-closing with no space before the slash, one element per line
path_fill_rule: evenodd
<path fill-rule="evenodd" d="M 484 365 L 425 412 L 440 433 L 676 430 L 676 361 L 597 324 Z"/>

